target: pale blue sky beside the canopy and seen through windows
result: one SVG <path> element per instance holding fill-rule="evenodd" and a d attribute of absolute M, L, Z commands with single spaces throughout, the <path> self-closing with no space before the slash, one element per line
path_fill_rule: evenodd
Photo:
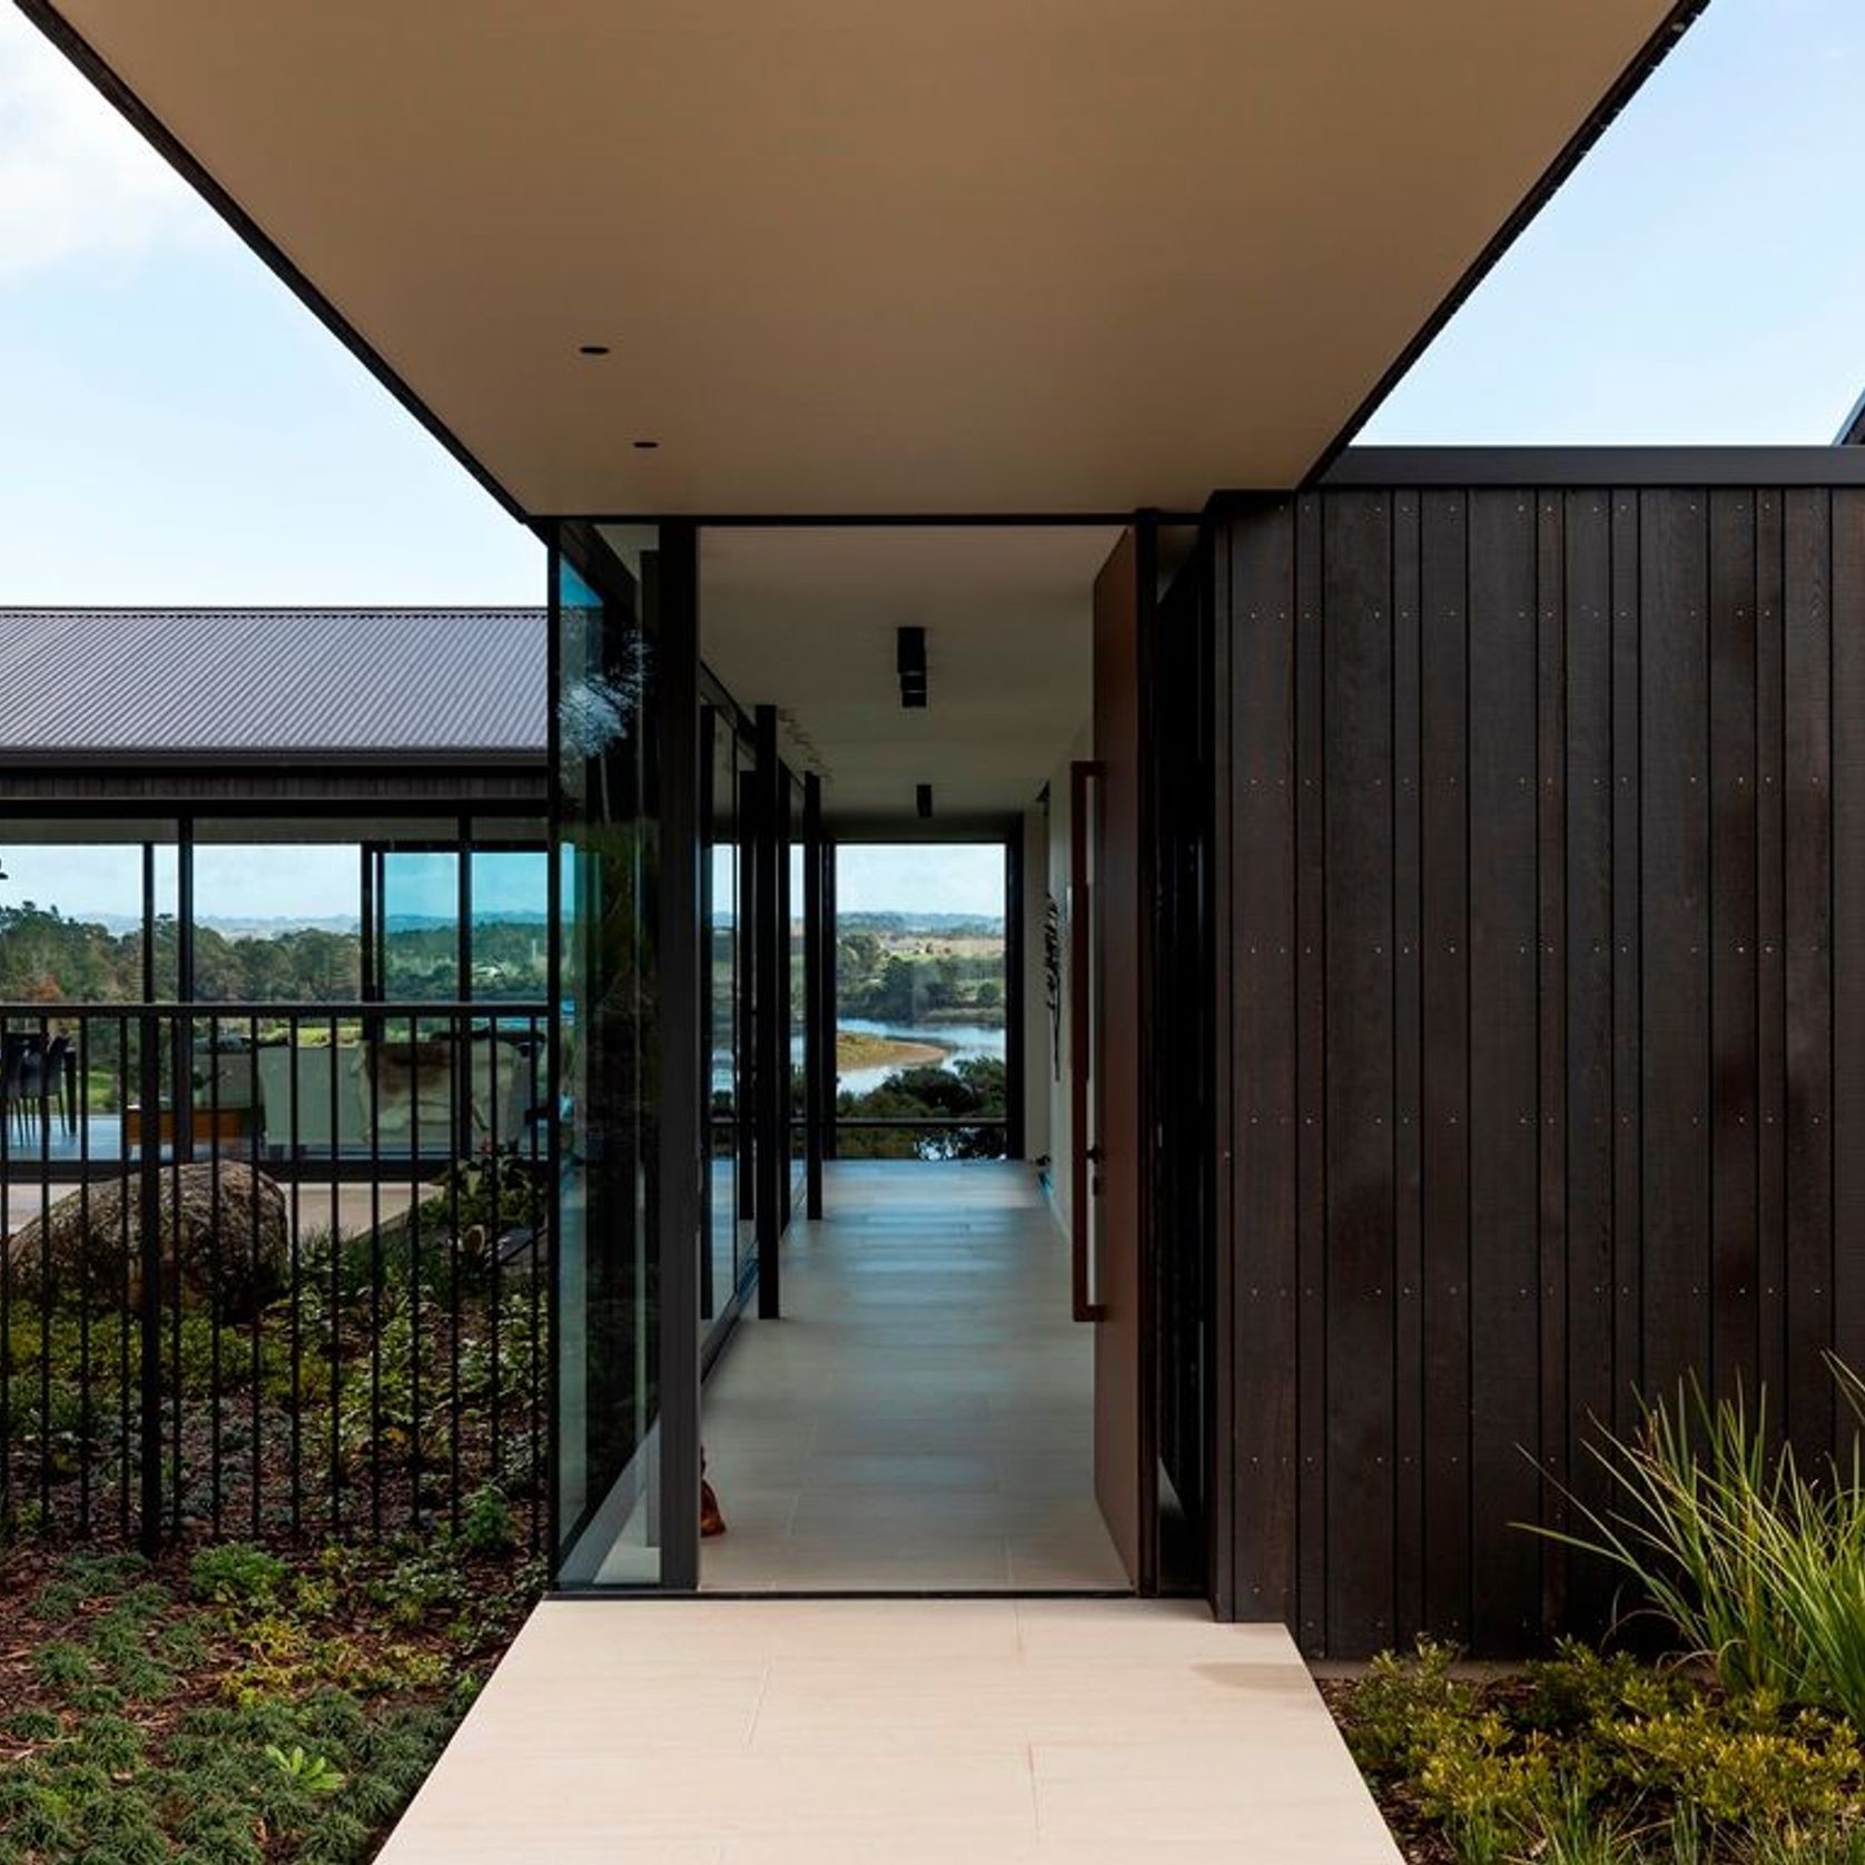
<path fill-rule="evenodd" d="M 1363 438 L 1831 440 L 1865 388 L 1861 80 L 1861 0 L 1712 0 Z M 0 606 L 543 597 L 537 539 L 4 4 L 0 436 Z M 65 888 L 114 912 L 101 856 Z M 0 903 L 32 860 L 0 824 Z M 222 910 L 321 916 L 347 862 L 235 863 Z M 998 888 L 916 847 L 843 899 Z"/>

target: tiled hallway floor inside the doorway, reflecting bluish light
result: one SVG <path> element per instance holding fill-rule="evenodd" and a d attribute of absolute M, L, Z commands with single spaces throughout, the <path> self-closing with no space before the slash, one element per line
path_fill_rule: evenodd
<path fill-rule="evenodd" d="M 1029 1166 L 847 1160 L 707 1380 L 707 1591 L 1125 1589 L 1093 1330 Z"/>

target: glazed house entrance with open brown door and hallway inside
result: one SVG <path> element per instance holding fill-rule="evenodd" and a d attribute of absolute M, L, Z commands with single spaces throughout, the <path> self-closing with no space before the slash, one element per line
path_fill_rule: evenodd
<path fill-rule="evenodd" d="M 1166 1067 L 1141 1009 L 1209 974 L 1195 537 L 556 530 L 561 1587 L 1201 1587 L 1209 1020 Z M 988 1143 L 839 1156 L 836 863 L 875 841 L 1002 850 Z"/>

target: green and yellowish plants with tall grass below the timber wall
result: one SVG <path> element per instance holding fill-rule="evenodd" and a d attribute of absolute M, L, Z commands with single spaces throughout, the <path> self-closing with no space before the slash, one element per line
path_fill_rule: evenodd
<path fill-rule="evenodd" d="M 1856 1427 L 1865 1384 L 1833 1378 Z M 1479 1677 L 1451 1647 L 1386 1654 L 1332 1701 L 1414 1859 L 1457 1865 L 1865 1865 L 1865 1466 L 1775 1442 L 1766 1402 L 1684 1384 L 1595 1453 L 1568 1498 L 1623 1619 L 1662 1662 L 1563 1643 Z"/>

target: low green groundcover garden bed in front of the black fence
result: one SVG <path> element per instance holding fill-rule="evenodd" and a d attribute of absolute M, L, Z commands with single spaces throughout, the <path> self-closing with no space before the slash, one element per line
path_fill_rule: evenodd
<path fill-rule="evenodd" d="M 0 1552 L 0 1865 L 373 1858 L 541 1583 L 490 1492 L 371 1548 Z"/>

